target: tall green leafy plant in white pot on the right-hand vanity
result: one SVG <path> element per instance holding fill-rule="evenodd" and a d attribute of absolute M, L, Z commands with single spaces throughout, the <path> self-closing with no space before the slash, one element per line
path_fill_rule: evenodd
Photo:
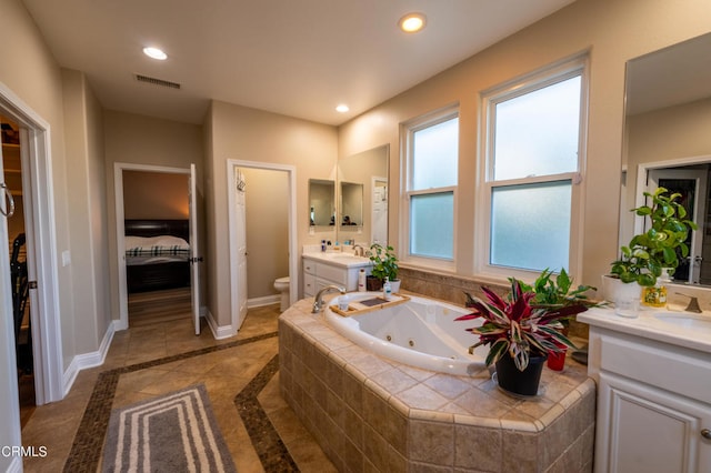
<path fill-rule="evenodd" d="M 654 285 L 663 269 L 670 269 L 671 274 L 680 258 L 689 255 L 689 230 L 699 228 L 687 219 L 687 209 L 678 201 L 680 193 L 669 194 L 669 190 L 658 188 L 653 193 L 644 192 L 644 197 L 649 203 L 632 212 L 649 218 L 651 224 L 621 246 L 620 258 L 612 262 L 611 276 L 603 279 L 605 299 L 615 303 L 620 315 L 634 315 L 642 286 Z"/>

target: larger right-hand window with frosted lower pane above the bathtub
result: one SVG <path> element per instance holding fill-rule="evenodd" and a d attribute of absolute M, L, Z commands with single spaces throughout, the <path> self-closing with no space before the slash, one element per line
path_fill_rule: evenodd
<path fill-rule="evenodd" d="M 481 273 L 575 274 L 585 64 L 575 58 L 483 94 Z"/>

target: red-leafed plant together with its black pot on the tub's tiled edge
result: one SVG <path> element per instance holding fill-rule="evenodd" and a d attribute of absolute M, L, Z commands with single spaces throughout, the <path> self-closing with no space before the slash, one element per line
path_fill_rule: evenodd
<path fill-rule="evenodd" d="M 504 391 L 518 395 L 535 395 L 543 363 L 549 352 L 575 345 L 562 333 L 562 320 L 588 310 L 583 303 L 535 305 L 535 292 L 510 279 L 511 290 L 500 296 L 489 288 L 481 290 L 485 300 L 471 298 L 471 314 L 457 320 L 481 319 L 481 324 L 467 329 L 479 335 L 470 346 L 489 345 L 487 365 L 497 368 L 497 382 Z"/>

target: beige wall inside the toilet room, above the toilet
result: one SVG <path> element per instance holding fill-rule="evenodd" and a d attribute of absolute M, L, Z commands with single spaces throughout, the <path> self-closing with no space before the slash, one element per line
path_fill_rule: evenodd
<path fill-rule="evenodd" d="M 277 294 L 274 280 L 289 275 L 289 175 L 242 169 L 247 211 L 247 299 Z"/>

